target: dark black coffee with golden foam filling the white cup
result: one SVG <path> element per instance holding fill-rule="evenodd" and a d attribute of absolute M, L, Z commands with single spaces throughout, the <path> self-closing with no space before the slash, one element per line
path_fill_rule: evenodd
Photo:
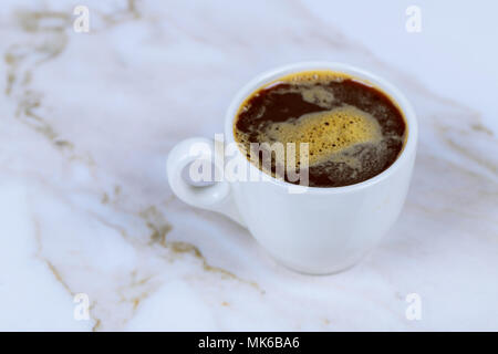
<path fill-rule="evenodd" d="M 403 115 L 386 94 L 329 71 L 292 74 L 256 91 L 240 106 L 234 129 L 248 158 L 251 143 L 295 143 L 292 162 L 298 171 L 309 168 L 310 187 L 349 186 L 378 175 L 395 162 L 406 135 Z M 301 165 L 300 143 L 309 143 L 308 166 Z M 276 154 L 258 167 L 278 175 Z M 279 177 L 298 184 L 283 170 Z"/>

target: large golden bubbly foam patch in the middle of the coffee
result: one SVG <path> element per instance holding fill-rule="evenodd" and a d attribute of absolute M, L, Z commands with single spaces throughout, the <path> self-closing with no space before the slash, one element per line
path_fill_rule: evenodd
<path fill-rule="evenodd" d="M 304 114 L 297 119 L 272 123 L 259 133 L 259 142 L 297 144 L 297 160 L 300 163 L 300 143 L 309 143 L 309 165 L 313 166 L 357 144 L 376 144 L 382 139 L 381 126 L 369 113 L 354 106 L 340 107 L 318 113 Z M 354 158 L 335 158 L 357 166 Z"/>

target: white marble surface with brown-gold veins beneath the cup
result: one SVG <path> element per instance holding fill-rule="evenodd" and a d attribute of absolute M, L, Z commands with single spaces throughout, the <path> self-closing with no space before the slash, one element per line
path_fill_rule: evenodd
<path fill-rule="evenodd" d="M 407 1 L 2 1 L 0 330 L 498 330 L 498 9 L 434 2 L 407 33 Z M 165 175 L 248 80 L 309 59 L 392 81 L 421 129 L 397 223 L 332 277 L 282 268 Z"/>

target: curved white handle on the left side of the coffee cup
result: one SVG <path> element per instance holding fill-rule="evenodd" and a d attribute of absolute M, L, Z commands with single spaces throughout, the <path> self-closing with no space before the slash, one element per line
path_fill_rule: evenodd
<path fill-rule="evenodd" d="M 215 181 L 209 186 L 193 186 L 183 176 L 184 169 L 195 160 L 206 159 L 212 163 L 215 168 L 224 170 L 219 162 L 222 158 L 215 158 L 215 142 L 204 137 L 193 137 L 178 143 L 169 153 L 166 165 L 167 177 L 173 192 L 186 204 L 222 214 L 230 219 L 246 227 L 234 200 L 231 186 L 228 181 Z"/>

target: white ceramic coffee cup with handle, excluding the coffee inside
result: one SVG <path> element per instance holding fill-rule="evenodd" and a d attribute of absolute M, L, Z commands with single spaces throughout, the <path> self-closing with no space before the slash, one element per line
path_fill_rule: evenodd
<path fill-rule="evenodd" d="M 363 183 L 289 192 L 289 183 L 266 175 L 237 150 L 259 181 L 217 181 L 194 187 L 184 178 L 184 169 L 198 158 L 191 147 L 209 146 L 214 140 L 189 138 L 176 145 L 167 160 L 169 185 L 183 201 L 214 210 L 247 227 L 256 240 L 290 269 L 312 274 L 338 272 L 354 266 L 376 246 L 398 217 L 408 190 L 416 154 L 417 122 L 405 96 L 385 80 L 364 70 L 333 62 L 303 62 L 266 72 L 232 100 L 225 121 L 226 143 L 234 143 L 234 119 L 251 93 L 281 76 L 311 70 L 331 70 L 378 87 L 401 108 L 407 123 L 407 138 L 394 164 Z M 216 160 L 216 159 L 215 159 Z M 216 166 L 222 169 L 222 166 Z"/>

